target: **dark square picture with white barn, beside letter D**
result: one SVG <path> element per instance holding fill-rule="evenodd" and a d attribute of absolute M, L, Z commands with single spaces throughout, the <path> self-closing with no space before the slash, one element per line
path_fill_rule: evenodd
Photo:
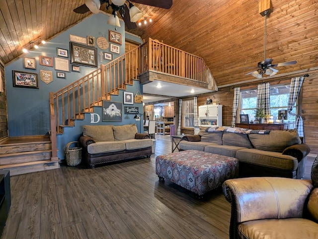
<path fill-rule="evenodd" d="M 103 101 L 102 121 L 122 121 L 122 103 Z"/>

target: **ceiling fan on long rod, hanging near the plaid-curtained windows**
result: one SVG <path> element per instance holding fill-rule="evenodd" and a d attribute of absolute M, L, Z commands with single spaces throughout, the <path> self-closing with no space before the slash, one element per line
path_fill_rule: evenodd
<path fill-rule="evenodd" d="M 273 59 L 267 58 L 266 59 L 266 19 L 267 16 L 271 13 L 271 9 L 265 10 L 264 12 L 261 12 L 262 16 L 265 16 L 265 39 L 264 39 L 264 60 L 259 61 L 257 63 L 257 67 L 244 67 L 244 68 L 257 68 L 256 70 L 253 70 L 251 72 L 248 72 L 245 75 L 252 74 L 252 76 L 256 78 L 262 78 L 263 74 L 273 76 L 275 75 L 278 70 L 275 69 L 274 67 L 279 67 L 279 66 L 284 66 L 284 65 L 291 65 L 291 64 L 296 64 L 296 60 L 292 61 L 287 61 L 287 62 L 282 62 L 282 63 L 277 63 L 277 64 L 272 64 Z"/>

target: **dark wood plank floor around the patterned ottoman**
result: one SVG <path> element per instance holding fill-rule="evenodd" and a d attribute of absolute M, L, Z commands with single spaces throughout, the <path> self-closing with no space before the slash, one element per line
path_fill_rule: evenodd
<path fill-rule="evenodd" d="M 156 138 L 150 159 L 11 177 L 12 204 L 1 238 L 229 238 L 231 208 L 221 189 L 197 199 L 174 183 L 159 182 L 155 157 L 170 153 L 171 141 Z"/>

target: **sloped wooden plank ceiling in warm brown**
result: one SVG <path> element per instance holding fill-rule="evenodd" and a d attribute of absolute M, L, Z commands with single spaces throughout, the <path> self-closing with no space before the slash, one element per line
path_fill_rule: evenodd
<path fill-rule="evenodd" d="M 135 4 L 153 23 L 129 32 L 202 57 L 218 86 L 253 79 L 245 73 L 264 60 L 265 18 L 258 13 L 259 0 L 173 0 L 170 9 Z M 0 0 L 0 60 L 10 62 L 36 39 L 48 40 L 90 13 L 73 9 L 84 0 Z M 279 73 L 318 66 L 317 0 L 272 0 L 267 19 L 266 58 Z M 105 9 L 105 4 L 101 6 Z M 127 30 L 127 29 L 126 29 Z"/>

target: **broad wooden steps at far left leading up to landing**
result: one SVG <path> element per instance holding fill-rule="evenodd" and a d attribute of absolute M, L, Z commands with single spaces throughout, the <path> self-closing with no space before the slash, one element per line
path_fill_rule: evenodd
<path fill-rule="evenodd" d="M 48 135 L 8 137 L 0 141 L 0 170 L 10 175 L 58 169 L 52 161 L 52 143 Z"/>

